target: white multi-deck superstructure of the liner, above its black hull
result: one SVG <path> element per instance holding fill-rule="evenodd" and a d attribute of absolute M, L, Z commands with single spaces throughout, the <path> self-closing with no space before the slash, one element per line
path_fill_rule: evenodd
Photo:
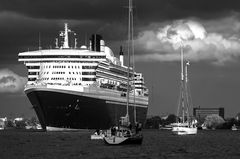
<path fill-rule="evenodd" d="M 19 61 L 28 68 L 27 87 L 48 85 L 52 87 L 89 87 L 119 91 L 127 90 L 127 67 L 124 66 L 123 51 L 120 57 L 114 56 L 112 50 L 105 46 L 100 35 L 92 35 L 89 47 L 77 47 L 76 33 L 68 29 L 56 39 L 54 49 L 27 51 L 19 53 Z M 130 68 L 130 78 L 134 80 L 135 93 L 147 96 L 148 90 L 141 73 L 133 73 Z M 134 88 L 132 86 L 132 88 Z"/>

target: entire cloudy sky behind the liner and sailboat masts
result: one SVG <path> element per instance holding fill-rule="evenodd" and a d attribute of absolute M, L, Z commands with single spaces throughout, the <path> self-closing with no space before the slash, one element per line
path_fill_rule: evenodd
<path fill-rule="evenodd" d="M 35 116 L 23 92 L 27 69 L 18 53 L 54 46 L 64 23 L 79 46 L 101 34 L 114 52 L 126 48 L 127 0 L 0 0 L 0 117 Z M 150 91 L 149 115 L 177 112 L 180 46 L 190 61 L 194 107 L 240 112 L 240 1 L 134 0 L 136 71 Z M 126 49 L 125 49 L 126 50 Z"/>

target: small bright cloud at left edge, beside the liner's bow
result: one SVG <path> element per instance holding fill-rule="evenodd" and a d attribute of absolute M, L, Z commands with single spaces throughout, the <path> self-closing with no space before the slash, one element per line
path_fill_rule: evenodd
<path fill-rule="evenodd" d="M 22 92 L 26 83 L 26 77 L 21 77 L 9 69 L 0 70 L 0 93 Z"/>

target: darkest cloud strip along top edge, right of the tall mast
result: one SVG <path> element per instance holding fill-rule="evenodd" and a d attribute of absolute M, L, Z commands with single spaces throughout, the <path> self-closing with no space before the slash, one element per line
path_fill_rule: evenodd
<path fill-rule="evenodd" d="M 187 17 L 211 19 L 240 11 L 238 0 L 148 0 L 147 2 L 136 1 L 141 18 L 150 22 Z"/>

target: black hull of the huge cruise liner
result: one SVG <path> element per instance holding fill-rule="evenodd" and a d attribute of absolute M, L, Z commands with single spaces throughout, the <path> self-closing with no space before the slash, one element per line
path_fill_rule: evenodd
<path fill-rule="evenodd" d="M 126 115 L 126 103 L 64 92 L 34 90 L 26 92 L 43 127 L 108 129 Z M 147 107 L 136 107 L 137 121 L 144 123 Z M 134 108 L 129 106 L 130 121 Z"/>

